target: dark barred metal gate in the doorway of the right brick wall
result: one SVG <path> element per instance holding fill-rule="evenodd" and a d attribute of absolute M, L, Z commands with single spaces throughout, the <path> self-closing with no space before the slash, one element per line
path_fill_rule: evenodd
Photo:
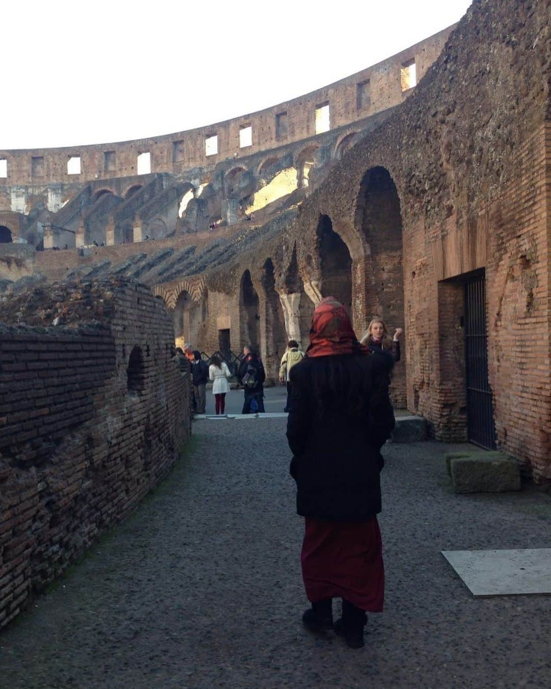
<path fill-rule="evenodd" d="M 495 449 L 494 410 L 488 382 L 486 279 L 465 285 L 465 364 L 467 377 L 467 432 L 469 442 Z"/>

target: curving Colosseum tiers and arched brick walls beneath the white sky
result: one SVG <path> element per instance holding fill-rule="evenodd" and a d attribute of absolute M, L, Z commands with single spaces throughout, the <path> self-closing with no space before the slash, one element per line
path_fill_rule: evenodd
<path fill-rule="evenodd" d="M 271 378 L 332 294 L 357 333 L 375 314 L 404 328 L 397 407 L 437 440 L 497 446 L 551 480 L 550 9 L 476 0 L 382 63 L 197 130 L 0 151 L 3 375 L 21 294 L 48 339 L 41 298 L 99 284 L 130 319 L 121 285 L 137 281 L 163 298 L 178 344 L 251 342 Z"/>

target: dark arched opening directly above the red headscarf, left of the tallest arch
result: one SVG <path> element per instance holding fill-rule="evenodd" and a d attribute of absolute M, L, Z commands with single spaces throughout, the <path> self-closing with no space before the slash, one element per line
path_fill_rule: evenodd
<path fill-rule="evenodd" d="M 329 216 L 320 216 L 318 222 L 318 251 L 322 296 L 333 296 L 339 300 L 351 315 L 352 312 L 352 257 L 349 247 L 333 231 Z"/>

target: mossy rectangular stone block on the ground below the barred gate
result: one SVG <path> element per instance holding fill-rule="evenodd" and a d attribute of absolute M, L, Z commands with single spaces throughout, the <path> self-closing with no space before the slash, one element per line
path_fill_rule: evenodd
<path fill-rule="evenodd" d="M 520 491 L 519 465 L 501 452 L 446 453 L 448 473 L 455 493 Z"/>

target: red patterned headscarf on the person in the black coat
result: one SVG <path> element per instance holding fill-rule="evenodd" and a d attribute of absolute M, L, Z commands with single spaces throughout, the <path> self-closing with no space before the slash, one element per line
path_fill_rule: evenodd
<path fill-rule="evenodd" d="M 352 353 L 371 352 L 357 341 L 344 306 L 335 297 L 325 297 L 314 311 L 306 356 Z"/>

